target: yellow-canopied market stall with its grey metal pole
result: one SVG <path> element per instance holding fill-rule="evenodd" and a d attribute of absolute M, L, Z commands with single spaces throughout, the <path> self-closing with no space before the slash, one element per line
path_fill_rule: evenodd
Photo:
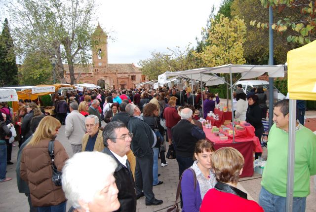
<path fill-rule="evenodd" d="M 296 100 L 316 100 L 316 40 L 287 53 L 287 88 L 290 98 L 286 211 L 292 211 Z"/>

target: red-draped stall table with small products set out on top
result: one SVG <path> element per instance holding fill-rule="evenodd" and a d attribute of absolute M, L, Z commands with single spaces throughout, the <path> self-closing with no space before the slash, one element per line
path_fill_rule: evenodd
<path fill-rule="evenodd" d="M 215 150 L 227 146 L 236 148 L 245 160 L 240 177 L 251 177 L 253 176 L 253 152 L 262 152 L 261 144 L 255 136 L 253 126 L 249 124 L 244 126 L 243 123 L 236 123 L 236 125 L 238 129 L 236 129 L 237 127 L 235 128 L 235 143 L 233 143 L 233 127 L 231 125 L 221 125 L 218 133 L 212 132 L 212 129 L 206 128 L 206 126 L 203 126 L 203 131 L 206 139 L 212 142 Z M 216 136 L 215 134 L 220 134 L 220 136 Z"/>

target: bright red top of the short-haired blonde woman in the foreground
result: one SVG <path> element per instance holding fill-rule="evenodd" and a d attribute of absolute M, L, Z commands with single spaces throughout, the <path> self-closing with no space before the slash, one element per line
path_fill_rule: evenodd
<path fill-rule="evenodd" d="M 229 203 L 229 204 L 228 204 Z M 205 194 L 200 212 L 264 212 L 252 200 L 246 200 L 235 194 L 218 191 L 215 188 Z"/>

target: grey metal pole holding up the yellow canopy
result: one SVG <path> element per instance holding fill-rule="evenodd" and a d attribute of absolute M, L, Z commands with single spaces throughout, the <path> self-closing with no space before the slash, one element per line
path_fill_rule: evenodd
<path fill-rule="evenodd" d="M 294 159 L 295 159 L 295 127 L 296 127 L 296 100 L 289 101 L 289 131 L 287 152 L 287 183 L 286 183 L 286 212 L 293 211 L 294 187 Z M 269 104 L 270 105 L 270 104 Z"/>

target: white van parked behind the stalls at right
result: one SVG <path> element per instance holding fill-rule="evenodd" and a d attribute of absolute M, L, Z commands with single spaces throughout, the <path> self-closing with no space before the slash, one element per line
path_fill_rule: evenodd
<path fill-rule="evenodd" d="M 253 87 L 258 88 L 259 86 L 262 86 L 263 90 L 267 94 L 267 105 L 269 105 L 269 103 L 268 103 L 268 101 L 269 101 L 269 82 L 268 81 L 265 81 L 265 80 L 240 80 L 236 83 L 234 91 L 237 90 L 238 84 L 242 85 L 243 92 L 245 92 L 246 94 L 248 94 Z M 275 101 L 276 101 L 276 98 L 277 98 L 277 100 L 285 99 L 285 96 L 281 92 L 279 92 L 279 90 L 277 90 L 276 87 L 274 87 L 274 91 L 275 91 L 274 92 L 275 93 L 275 95 L 274 95 Z"/>

